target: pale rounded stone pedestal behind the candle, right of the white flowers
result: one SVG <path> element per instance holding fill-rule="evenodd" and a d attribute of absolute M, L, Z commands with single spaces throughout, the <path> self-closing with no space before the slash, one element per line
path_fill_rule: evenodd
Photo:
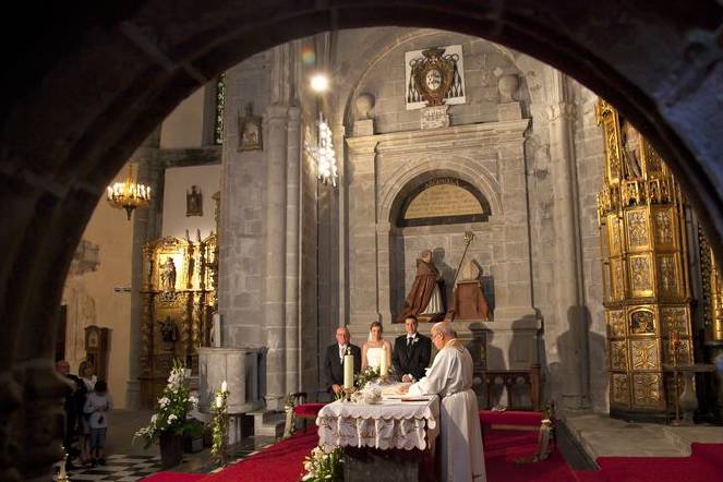
<path fill-rule="evenodd" d="M 265 358 L 265 348 L 198 348 L 198 410 L 210 412 L 224 381 L 228 384 L 229 413 L 263 407 Z"/>

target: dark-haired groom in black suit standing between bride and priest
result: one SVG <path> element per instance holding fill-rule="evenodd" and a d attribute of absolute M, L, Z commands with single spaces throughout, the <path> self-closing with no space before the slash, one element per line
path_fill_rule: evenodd
<path fill-rule="evenodd" d="M 417 332 L 417 316 L 405 317 L 407 335 L 394 341 L 391 361 L 394 370 L 402 382 L 415 382 L 425 375 L 424 369 L 432 358 L 432 340 Z"/>

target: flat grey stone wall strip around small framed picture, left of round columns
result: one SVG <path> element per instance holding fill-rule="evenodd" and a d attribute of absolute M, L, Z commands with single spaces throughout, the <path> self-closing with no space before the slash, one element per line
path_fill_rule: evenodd
<path fill-rule="evenodd" d="M 263 52 L 226 74 L 225 141 L 221 169 L 219 312 L 227 347 L 263 346 L 265 153 L 238 152 L 238 116 L 253 101 L 264 111 L 270 96 L 269 53 Z M 266 134 L 264 131 L 263 134 Z M 281 262 L 281 260 L 279 260 Z"/>

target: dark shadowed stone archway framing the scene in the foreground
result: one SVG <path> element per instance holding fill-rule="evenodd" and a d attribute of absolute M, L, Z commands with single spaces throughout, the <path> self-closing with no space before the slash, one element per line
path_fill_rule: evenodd
<path fill-rule="evenodd" d="M 316 32 L 410 25 L 478 35 L 571 74 L 670 160 L 723 255 L 723 13 L 715 1 L 563 0 L 17 5 L 33 35 L 3 43 L 0 108 L 0 479 L 60 457 L 51 366 L 64 274 L 105 184 L 183 97 L 251 53 Z M 22 410 L 19 408 L 22 407 Z"/>

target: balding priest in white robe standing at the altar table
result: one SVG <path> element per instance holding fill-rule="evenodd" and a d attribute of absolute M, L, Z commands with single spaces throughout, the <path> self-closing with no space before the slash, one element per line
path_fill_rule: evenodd
<path fill-rule="evenodd" d="M 472 357 L 449 322 L 432 327 L 439 350 L 427 375 L 409 387 L 410 395 L 439 395 L 443 482 L 483 482 L 484 451 L 477 396 L 472 390 Z"/>

